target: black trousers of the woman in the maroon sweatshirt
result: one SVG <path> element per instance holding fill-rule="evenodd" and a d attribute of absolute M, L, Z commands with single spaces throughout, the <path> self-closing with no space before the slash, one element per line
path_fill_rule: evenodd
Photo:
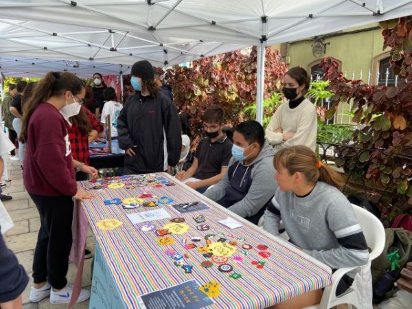
<path fill-rule="evenodd" d="M 71 196 L 30 194 L 30 197 L 41 221 L 34 249 L 33 281 L 37 284 L 47 279 L 53 288 L 64 288 L 71 249 L 73 200 Z"/>

